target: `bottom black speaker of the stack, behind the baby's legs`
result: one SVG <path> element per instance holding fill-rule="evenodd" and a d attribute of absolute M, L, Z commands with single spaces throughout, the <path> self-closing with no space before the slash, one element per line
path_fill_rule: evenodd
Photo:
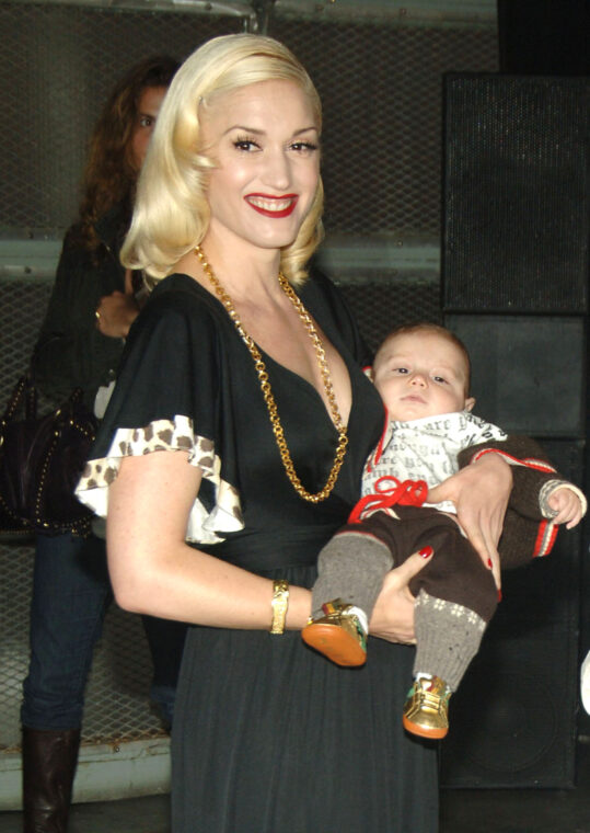
<path fill-rule="evenodd" d="M 580 482 L 582 443 L 543 445 Z M 442 786 L 575 786 L 579 593 L 578 528 L 562 529 L 549 556 L 505 573 L 504 601 L 450 701 Z"/>

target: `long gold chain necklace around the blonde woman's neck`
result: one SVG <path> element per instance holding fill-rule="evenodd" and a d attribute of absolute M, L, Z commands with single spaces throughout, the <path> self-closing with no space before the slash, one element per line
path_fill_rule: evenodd
<path fill-rule="evenodd" d="M 280 424 L 280 419 L 279 419 L 279 414 L 277 410 L 277 403 L 275 402 L 275 398 L 270 389 L 270 383 L 268 381 L 268 374 L 266 372 L 266 366 L 263 362 L 261 351 L 256 346 L 252 336 L 250 336 L 247 332 L 244 330 L 244 328 L 242 327 L 242 322 L 240 321 L 238 312 L 235 311 L 232 299 L 230 298 L 228 293 L 223 289 L 223 287 L 219 283 L 209 263 L 207 263 L 207 258 L 205 255 L 205 252 L 200 248 L 200 246 L 197 246 L 195 248 L 195 254 L 198 256 L 200 261 L 200 265 L 203 266 L 203 271 L 205 272 L 205 274 L 211 282 L 213 289 L 216 292 L 216 295 L 218 296 L 219 300 L 225 308 L 229 317 L 235 324 L 235 329 L 242 336 L 243 341 L 246 344 L 246 347 L 250 351 L 252 358 L 254 360 L 254 366 L 256 368 L 256 373 L 258 374 L 258 379 L 261 383 L 261 389 L 263 391 L 264 401 L 266 402 L 266 407 L 268 409 L 268 415 L 270 416 L 270 424 L 273 425 L 275 441 L 277 443 L 280 458 L 282 460 L 282 465 L 285 466 L 285 471 L 287 472 L 287 477 L 291 481 L 296 492 L 299 494 L 300 498 L 303 498 L 303 500 L 310 501 L 310 503 L 320 503 L 321 501 L 324 501 L 334 489 L 334 486 L 338 478 L 338 473 L 343 466 L 344 457 L 346 454 L 346 446 L 348 445 L 348 437 L 346 435 L 346 425 L 343 423 L 340 412 L 338 411 L 338 406 L 336 404 L 336 397 L 334 396 L 332 379 L 329 378 L 329 368 L 326 362 L 326 354 L 325 354 L 322 341 L 320 336 L 317 335 L 317 331 L 315 327 L 313 326 L 313 321 L 311 320 L 310 315 L 308 313 L 308 310 L 305 309 L 305 307 L 303 306 L 303 304 L 301 303 L 301 300 L 294 293 L 291 284 L 287 281 L 282 272 L 279 272 L 278 277 L 279 277 L 279 284 L 281 286 L 281 289 L 284 290 L 284 293 L 287 295 L 287 297 L 289 298 L 289 300 L 296 308 L 299 315 L 299 318 L 301 319 L 303 323 L 303 327 L 308 331 L 309 336 L 313 342 L 315 355 L 317 356 L 317 365 L 320 366 L 320 370 L 322 373 L 322 380 L 324 383 L 324 390 L 326 391 L 329 410 L 332 411 L 334 424 L 336 425 L 336 430 L 338 431 L 338 446 L 336 448 L 336 455 L 334 457 L 334 465 L 332 467 L 332 471 L 329 472 L 329 476 L 326 480 L 326 484 L 324 486 L 324 488 L 321 491 L 316 492 L 315 494 L 312 494 L 311 492 L 306 491 L 306 489 L 302 484 L 301 480 L 299 479 L 294 470 L 293 461 L 291 459 L 289 448 L 287 447 L 287 441 L 285 440 L 285 432 L 282 431 L 282 425 Z"/>

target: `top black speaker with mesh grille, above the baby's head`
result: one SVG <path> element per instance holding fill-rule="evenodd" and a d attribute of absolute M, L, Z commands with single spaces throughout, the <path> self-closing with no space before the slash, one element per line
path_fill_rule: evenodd
<path fill-rule="evenodd" d="M 590 78 L 450 75 L 443 307 L 588 311 Z"/>

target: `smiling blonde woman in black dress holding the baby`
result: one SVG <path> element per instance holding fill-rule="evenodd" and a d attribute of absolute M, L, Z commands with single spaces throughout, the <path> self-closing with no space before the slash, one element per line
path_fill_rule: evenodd
<path fill-rule="evenodd" d="M 198 626 L 173 728 L 174 833 L 437 830 L 436 751 L 392 717 L 423 559 L 386 577 L 370 665 L 343 672 L 299 638 L 317 552 L 383 421 L 355 321 L 305 276 L 321 129 L 281 44 L 205 44 L 166 96 L 124 247 L 155 288 L 79 494 L 108 509 L 119 603 Z M 509 488 L 501 461 L 449 481 L 479 545 L 497 540 Z"/>

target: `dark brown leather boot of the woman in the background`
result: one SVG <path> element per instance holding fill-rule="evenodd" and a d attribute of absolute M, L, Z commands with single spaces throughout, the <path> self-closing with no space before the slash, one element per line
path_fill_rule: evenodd
<path fill-rule="evenodd" d="M 23 727 L 23 831 L 66 833 L 80 729 Z"/>

